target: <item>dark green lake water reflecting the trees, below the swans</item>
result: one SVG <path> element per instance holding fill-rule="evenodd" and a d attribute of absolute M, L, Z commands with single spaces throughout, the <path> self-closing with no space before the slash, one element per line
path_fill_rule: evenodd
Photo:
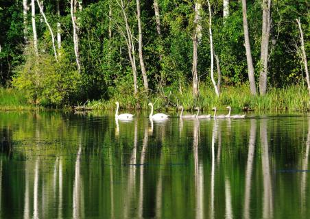
<path fill-rule="evenodd" d="M 307 116 L 0 112 L 0 217 L 309 218 Z"/>

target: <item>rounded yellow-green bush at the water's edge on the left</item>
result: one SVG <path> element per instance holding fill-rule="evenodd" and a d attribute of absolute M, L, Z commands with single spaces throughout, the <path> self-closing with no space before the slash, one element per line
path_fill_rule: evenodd
<path fill-rule="evenodd" d="M 73 101 L 80 90 L 81 75 L 60 51 L 58 62 L 52 55 L 38 57 L 31 47 L 25 50 L 25 64 L 19 66 L 12 85 L 25 92 L 31 103 L 62 105 Z"/>

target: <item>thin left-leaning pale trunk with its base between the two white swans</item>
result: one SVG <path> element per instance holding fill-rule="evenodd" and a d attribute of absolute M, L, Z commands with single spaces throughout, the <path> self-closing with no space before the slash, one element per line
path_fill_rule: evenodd
<path fill-rule="evenodd" d="M 138 93 L 138 86 L 137 86 L 137 79 L 136 79 L 136 59 L 134 57 L 134 42 L 132 39 L 132 33 L 130 31 L 130 27 L 128 25 L 128 18 L 127 18 L 127 14 L 125 11 L 125 7 L 124 7 L 124 3 L 123 0 L 121 0 L 121 3 L 119 3 L 118 0 L 116 0 L 117 3 L 119 4 L 121 11 L 123 12 L 123 19 L 126 25 L 126 34 L 127 37 L 124 35 L 124 37 L 126 38 L 126 43 L 128 46 L 128 55 L 129 55 L 129 59 L 130 59 L 130 63 L 132 66 L 132 74 L 134 77 L 134 94 Z"/>

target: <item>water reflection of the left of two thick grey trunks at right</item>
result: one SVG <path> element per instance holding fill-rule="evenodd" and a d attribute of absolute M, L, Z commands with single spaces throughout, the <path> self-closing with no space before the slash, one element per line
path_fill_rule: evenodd
<path fill-rule="evenodd" d="M 250 140 L 248 146 L 248 161 L 246 162 L 246 183 L 244 192 L 244 208 L 243 208 L 243 218 L 250 218 L 250 196 L 251 196 L 251 183 L 252 183 L 252 168 L 253 168 L 253 158 L 255 153 L 255 140 L 257 133 L 257 122 L 256 120 L 251 120 L 250 125 Z"/>

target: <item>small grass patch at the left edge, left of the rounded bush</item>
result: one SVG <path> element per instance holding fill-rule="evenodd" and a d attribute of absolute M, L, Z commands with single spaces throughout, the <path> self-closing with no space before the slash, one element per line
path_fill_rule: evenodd
<path fill-rule="evenodd" d="M 22 92 L 12 88 L 0 88 L 0 110 L 36 110 L 39 107 L 31 105 Z"/>

